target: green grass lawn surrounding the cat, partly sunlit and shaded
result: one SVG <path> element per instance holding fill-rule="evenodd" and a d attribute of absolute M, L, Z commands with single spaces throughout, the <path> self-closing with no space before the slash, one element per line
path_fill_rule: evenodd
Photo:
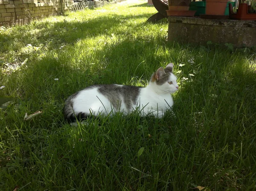
<path fill-rule="evenodd" d="M 0 109 L 0 190 L 256 189 L 256 55 L 169 44 L 167 20 L 147 23 L 157 11 L 145 3 L 0 29 L 0 96 L 15 98 Z M 175 116 L 64 122 L 64 100 L 76 91 L 145 86 L 169 62 L 180 85 Z"/>

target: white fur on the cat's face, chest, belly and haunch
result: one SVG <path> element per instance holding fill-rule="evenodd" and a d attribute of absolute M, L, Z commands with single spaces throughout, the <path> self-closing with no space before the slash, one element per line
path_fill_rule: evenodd
<path fill-rule="evenodd" d="M 124 101 L 121 100 L 119 110 L 113 109 L 108 98 L 98 92 L 98 87 L 92 89 L 85 89 L 79 92 L 73 101 L 73 111 L 75 114 L 91 113 L 94 116 L 99 115 L 113 115 L 116 112 L 123 112 L 124 114 L 131 113 L 134 110 L 140 111 L 140 116 L 153 115 L 162 118 L 166 110 L 173 105 L 171 93 L 177 90 L 177 78 L 174 74 L 170 75 L 169 82 L 163 85 L 157 85 L 156 82 L 150 82 L 147 87 L 141 88 L 137 99 L 137 104 L 132 105 L 128 110 Z M 122 86 L 122 85 L 117 85 Z"/>

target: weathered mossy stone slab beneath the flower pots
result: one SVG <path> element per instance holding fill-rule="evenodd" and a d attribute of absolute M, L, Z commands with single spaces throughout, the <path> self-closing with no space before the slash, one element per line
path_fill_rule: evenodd
<path fill-rule="evenodd" d="M 212 20 L 198 17 L 169 17 L 169 42 L 232 43 L 235 47 L 256 46 L 256 21 Z"/>

